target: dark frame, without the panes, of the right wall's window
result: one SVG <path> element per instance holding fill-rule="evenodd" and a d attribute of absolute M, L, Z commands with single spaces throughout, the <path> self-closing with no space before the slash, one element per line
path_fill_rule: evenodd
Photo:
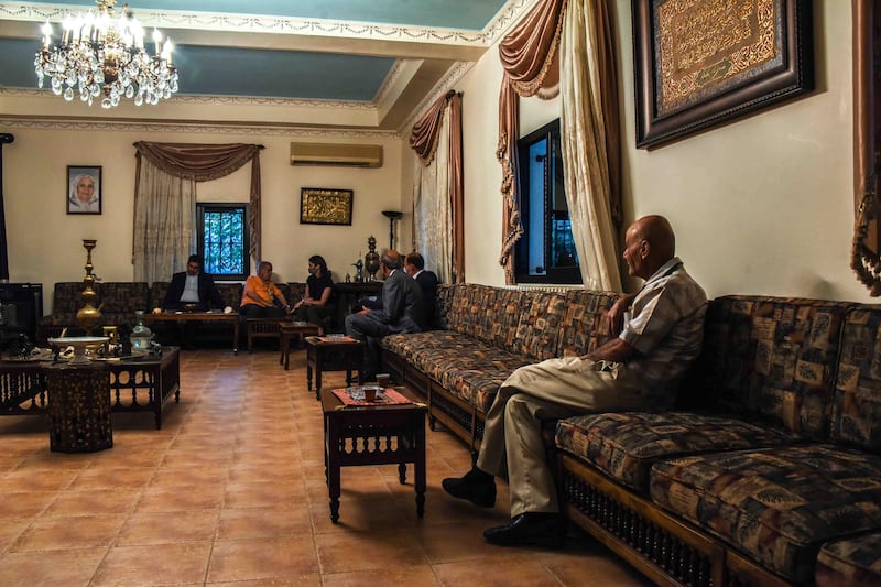
<path fill-rule="evenodd" d="M 552 209 L 552 202 L 554 197 L 554 186 L 556 185 L 558 189 L 562 189 L 563 193 L 563 200 L 565 199 L 565 184 L 563 181 L 563 155 L 561 151 L 561 126 L 559 126 L 559 118 L 548 122 L 547 124 L 534 130 L 533 132 L 520 138 L 516 142 L 516 194 L 520 200 L 520 216 L 521 216 L 521 224 L 523 226 L 523 235 L 520 237 L 520 240 L 516 242 L 515 246 L 515 253 L 514 253 L 514 274 L 516 279 L 516 283 L 541 283 L 541 284 L 561 284 L 561 285 L 569 285 L 569 284 L 580 284 L 583 283 L 581 280 L 581 270 L 580 264 L 576 261 L 576 264 L 573 267 L 566 268 L 556 268 L 553 267 L 552 263 L 547 261 L 551 259 L 551 225 L 554 222 L 554 214 L 545 214 L 543 218 L 543 231 L 541 235 L 541 239 L 544 242 L 544 254 L 545 254 L 545 262 L 544 267 L 545 272 L 543 275 L 534 275 L 530 273 L 529 270 L 529 247 L 530 247 L 530 237 L 534 238 L 534 235 L 530 231 L 530 150 L 532 145 L 540 142 L 541 140 L 547 140 L 548 149 L 547 155 L 555 160 L 552 171 L 545 171 L 548 175 L 553 175 L 550 182 L 545 182 L 545 186 L 551 186 L 550 189 L 545 189 L 542 194 L 544 199 L 543 207 L 545 210 Z M 555 156 L 554 156 L 555 155 Z M 568 213 L 568 202 L 566 204 L 566 209 Z M 572 218 L 572 215 L 569 215 Z"/>

